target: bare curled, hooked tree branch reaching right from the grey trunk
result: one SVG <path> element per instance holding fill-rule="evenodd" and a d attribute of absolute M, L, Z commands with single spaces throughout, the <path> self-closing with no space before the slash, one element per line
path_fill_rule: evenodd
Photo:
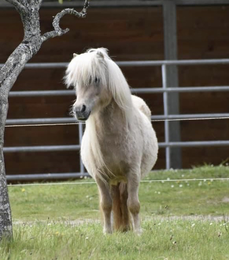
<path fill-rule="evenodd" d="M 62 29 L 60 27 L 60 20 L 64 15 L 71 14 L 71 15 L 78 16 L 78 18 L 85 18 L 87 15 L 88 7 L 89 7 L 89 1 L 85 0 L 84 7 L 81 12 L 77 12 L 71 8 L 66 8 L 66 9 L 62 10 L 61 12 L 59 12 L 58 14 L 56 14 L 56 16 L 53 19 L 53 23 L 52 23 L 54 30 L 51 32 L 44 33 L 41 37 L 42 42 L 44 42 L 50 38 L 61 36 L 69 31 L 69 28 Z"/>

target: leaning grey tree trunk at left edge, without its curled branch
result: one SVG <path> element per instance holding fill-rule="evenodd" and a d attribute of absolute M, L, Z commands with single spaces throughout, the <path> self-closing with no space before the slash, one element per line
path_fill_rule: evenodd
<path fill-rule="evenodd" d="M 32 24 L 28 26 L 29 20 L 26 17 L 23 18 L 24 15 L 25 14 L 21 15 L 24 29 L 26 29 L 23 42 L 15 49 L 1 68 L 0 76 L 0 239 L 3 236 L 12 237 L 13 235 L 3 155 L 9 91 L 13 87 L 25 64 L 41 47 L 41 38 L 38 37 L 40 35 L 40 27 L 36 25 L 36 28 L 31 30 Z M 29 14 L 30 21 L 37 20 L 38 17 L 38 11 L 30 12 Z"/>

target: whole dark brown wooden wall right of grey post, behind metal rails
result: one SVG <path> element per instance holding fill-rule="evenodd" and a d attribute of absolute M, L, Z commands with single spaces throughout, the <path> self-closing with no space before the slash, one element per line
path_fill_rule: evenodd
<path fill-rule="evenodd" d="M 177 8 L 178 58 L 229 57 L 229 6 Z M 179 67 L 179 84 L 185 86 L 229 85 L 229 65 Z M 180 94 L 180 112 L 228 113 L 228 92 Z M 228 140 L 229 120 L 181 123 L 183 141 Z M 183 148 L 183 165 L 220 164 L 229 158 L 229 147 Z"/>

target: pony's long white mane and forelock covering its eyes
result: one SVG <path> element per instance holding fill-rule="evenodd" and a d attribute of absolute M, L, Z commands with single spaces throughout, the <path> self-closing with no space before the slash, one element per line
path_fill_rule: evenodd
<path fill-rule="evenodd" d="M 99 77 L 101 84 L 111 93 L 117 105 L 123 110 L 126 119 L 132 113 L 132 100 L 129 85 L 118 67 L 108 56 L 105 48 L 89 49 L 75 55 L 68 65 L 65 76 L 67 87 L 87 86 L 91 78 Z"/>

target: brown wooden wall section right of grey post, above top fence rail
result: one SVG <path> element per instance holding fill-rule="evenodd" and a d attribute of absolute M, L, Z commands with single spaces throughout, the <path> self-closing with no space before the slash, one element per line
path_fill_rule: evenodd
<path fill-rule="evenodd" d="M 179 59 L 229 56 L 229 6 L 178 7 Z"/>

